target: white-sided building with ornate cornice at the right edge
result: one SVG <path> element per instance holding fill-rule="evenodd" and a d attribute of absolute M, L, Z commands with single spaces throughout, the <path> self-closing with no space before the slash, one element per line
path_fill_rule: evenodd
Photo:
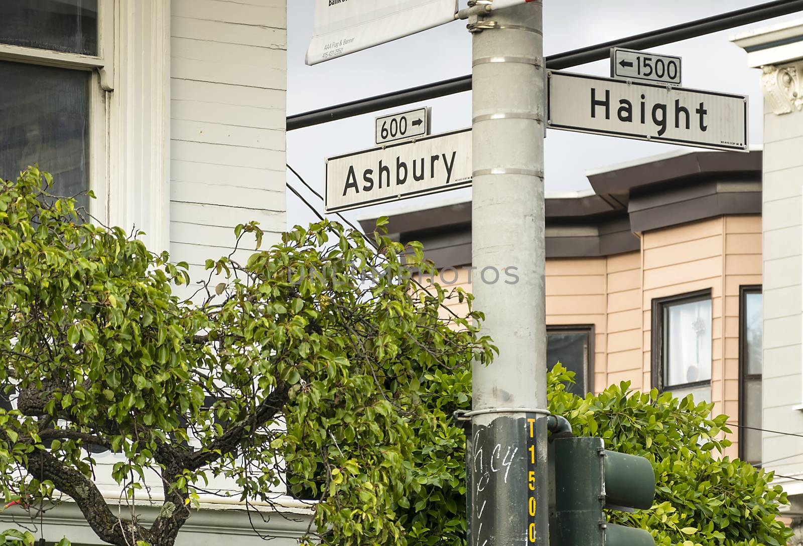
<path fill-rule="evenodd" d="M 764 91 L 764 373 L 762 466 L 789 493 L 803 528 L 803 19 L 732 41 Z M 777 431 L 777 432 L 772 432 Z M 780 433 L 791 433 L 780 434 Z"/>

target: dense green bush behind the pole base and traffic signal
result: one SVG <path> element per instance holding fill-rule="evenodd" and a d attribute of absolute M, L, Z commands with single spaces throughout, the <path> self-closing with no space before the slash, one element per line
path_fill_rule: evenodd
<path fill-rule="evenodd" d="M 783 546 L 793 532 L 777 520 L 786 493 L 772 485 L 772 472 L 740 459 L 719 458 L 730 440 L 726 415 L 713 419 L 712 404 L 672 398 L 657 390 L 630 390 L 629 382 L 585 398 L 565 390 L 573 372 L 558 364 L 548 374 L 549 410 L 572 423 L 578 436 L 599 436 L 613 451 L 642 455 L 653 463 L 653 508 L 610 512 L 613 523 L 650 531 L 658 546 Z M 471 376 L 466 370 L 426 374 L 428 413 L 443 423 L 454 409 L 468 409 Z M 426 430 L 426 429 L 424 429 Z M 402 511 L 408 544 L 466 544 L 463 431 L 443 424 L 419 435 L 414 479 L 421 483 Z"/>

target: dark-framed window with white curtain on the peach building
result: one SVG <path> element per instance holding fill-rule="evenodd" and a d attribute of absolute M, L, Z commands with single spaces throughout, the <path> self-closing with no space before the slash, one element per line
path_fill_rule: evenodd
<path fill-rule="evenodd" d="M 711 402 L 711 291 L 653 300 L 653 386 Z"/>

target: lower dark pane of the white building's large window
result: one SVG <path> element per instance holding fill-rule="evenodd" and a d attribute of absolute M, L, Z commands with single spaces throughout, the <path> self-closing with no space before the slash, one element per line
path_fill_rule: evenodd
<path fill-rule="evenodd" d="M 89 74 L 0 61 L 0 177 L 38 163 L 53 175 L 52 193 L 88 189 Z"/>

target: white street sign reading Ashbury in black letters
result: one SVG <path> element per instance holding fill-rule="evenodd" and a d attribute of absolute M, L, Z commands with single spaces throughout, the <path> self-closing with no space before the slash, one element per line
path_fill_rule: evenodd
<path fill-rule="evenodd" d="M 471 129 L 424 136 L 326 160 L 326 211 L 471 185 Z"/>

